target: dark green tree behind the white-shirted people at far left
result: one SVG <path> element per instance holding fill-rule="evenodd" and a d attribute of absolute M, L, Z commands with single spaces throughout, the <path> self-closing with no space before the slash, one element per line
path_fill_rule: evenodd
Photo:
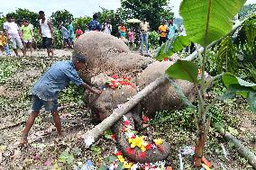
<path fill-rule="evenodd" d="M 39 27 L 39 14 L 29 11 L 28 9 L 18 8 L 15 12 L 11 13 L 14 16 L 15 21 L 18 20 L 29 20 L 34 27 Z"/>

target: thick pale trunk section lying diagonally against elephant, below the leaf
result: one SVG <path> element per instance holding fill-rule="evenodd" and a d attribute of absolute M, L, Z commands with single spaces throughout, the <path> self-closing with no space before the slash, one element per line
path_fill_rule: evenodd
<path fill-rule="evenodd" d="M 87 147 L 93 144 L 96 139 L 98 139 L 105 132 L 105 130 L 108 130 L 111 126 L 113 126 L 114 122 L 122 118 L 123 114 L 130 112 L 130 110 L 132 110 L 136 104 L 140 103 L 144 97 L 151 94 L 157 87 L 159 87 L 159 85 L 167 81 L 168 79 L 165 76 L 160 76 L 150 85 L 147 85 L 144 89 L 142 89 L 141 92 L 134 95 L 127 103 L 123 103 L 121 107 L 114 110 L 110 116 L 96 125 L 95 128 L 88 130 L 86 134 L 81 136 L 81 138 L 85 139 Z"/>

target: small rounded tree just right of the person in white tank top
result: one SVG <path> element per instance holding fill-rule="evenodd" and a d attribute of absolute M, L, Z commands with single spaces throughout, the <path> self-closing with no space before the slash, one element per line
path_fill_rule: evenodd
<path fill-rule="evenodd" d="M 57 11 L 50 15 L 50 20 L 54 27 L 58 27 L 59 23 L 63 23 L 65 26 L 69 25 L 69 20 L 73 20 L 74 16 L 67 10 Z"/>

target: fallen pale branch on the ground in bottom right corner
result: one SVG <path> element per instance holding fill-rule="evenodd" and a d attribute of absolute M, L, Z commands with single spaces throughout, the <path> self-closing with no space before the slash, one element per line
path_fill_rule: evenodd
<path fill-rule="evenodd" d="M 256 156 L 254 155 L 254 153 L 251 152 L 248 148 L 245 148 L 239 139 L 234 138 L 232 134 L 225 131 L 224 128 L 222 128 L 221 126 L 217 126 L 215 124 L 214 127 L 220 134 L 224 136 L 224 139 L 233 142 L 234 147 L 238 151 L 238 153 L 248 161 L 253 169 L 256 169 Z"/>

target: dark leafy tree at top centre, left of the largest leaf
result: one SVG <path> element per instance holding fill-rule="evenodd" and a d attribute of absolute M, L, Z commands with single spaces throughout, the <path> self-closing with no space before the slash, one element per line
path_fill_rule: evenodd
<path fill-rule="evenodd" d="M 170 20 L 173 13 L 169 7 L 169 0 L 121 0 L 123 9 L 130 10 L 130 17 L 150 22 L 152 30 L 158 30 L 161 20 Z"/>

